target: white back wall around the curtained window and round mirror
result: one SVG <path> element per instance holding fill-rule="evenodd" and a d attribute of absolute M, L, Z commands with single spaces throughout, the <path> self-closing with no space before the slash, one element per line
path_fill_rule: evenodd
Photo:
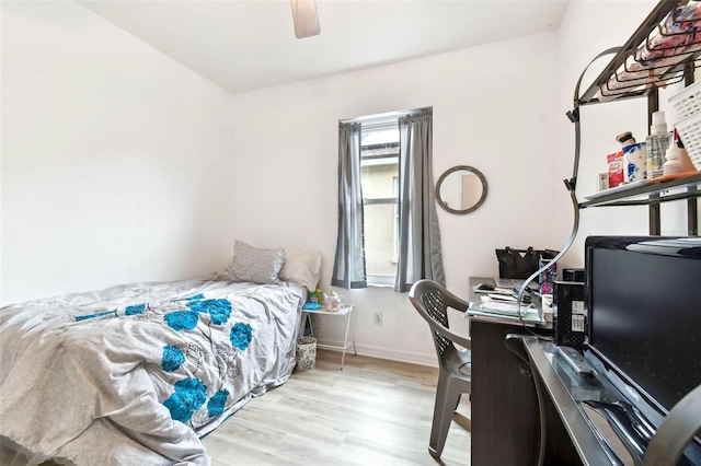
<path fill-rule="evenodd" d="M 439 210 L 448 288 L 467 298 L 469 276 L 496 275 L 495 247 L 556 248 L 564 238 L 551 215 L 555 38 L 539 34 L 237 95 L 232 237 L 318 247 L 322 286 L 330 290 L 338 120 L 433 106 L 434 178 L 453 165 L 473 165 L 490 184 L 475 212 Z M 356 305 L 358 351 L 435 364 L 428 327 L 405 293 L 335 291 Z M 374 311 L 383 314 L 381 327 L 372 325 Z M 342 338 L 341 321 L 319 323 L 322 342 Z M 462 316 L 455 321 L 464 328 Z"/>

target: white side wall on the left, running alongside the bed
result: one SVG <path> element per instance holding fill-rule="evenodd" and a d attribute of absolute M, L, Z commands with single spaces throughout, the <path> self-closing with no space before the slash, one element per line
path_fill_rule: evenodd
<path fill-rule="evenodd" d="M 72 2 L 2 2 L 8 304 L 230 254 L 232 96 Z"/>

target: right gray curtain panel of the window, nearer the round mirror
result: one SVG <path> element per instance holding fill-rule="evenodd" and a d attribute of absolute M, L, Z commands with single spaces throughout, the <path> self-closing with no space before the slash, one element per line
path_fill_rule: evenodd
<path fill-rule="evenodd" d="M 399 119 L 399 264 L 394 291 L 427 278 L 445 286 L 434 194 L 433 112 Z"/>

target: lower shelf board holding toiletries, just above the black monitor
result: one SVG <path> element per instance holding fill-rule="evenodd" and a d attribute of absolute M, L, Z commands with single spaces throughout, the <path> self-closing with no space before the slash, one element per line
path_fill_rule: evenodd
<path fill-rule="evenodd" d="M 679 199 L 701 197 L 701 173 L 671 179 L 669 182 L 644 185 L 629 190 L 612 193 L 586 202 L 579 208 L 599 206 L 650 206 Z"/>

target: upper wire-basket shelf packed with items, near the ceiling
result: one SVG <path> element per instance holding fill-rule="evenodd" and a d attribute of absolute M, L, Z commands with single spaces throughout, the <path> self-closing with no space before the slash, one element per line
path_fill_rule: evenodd
<path fill-rule="evenodd" d="M 660 1 L 578 97 L 578 105 L 648 96 L 658 88 L 682 81 L 685 72 L 692 72 L 701 57 L 701 33 L 690 25 L 700 20 L 685 21 L 681 15 L 692 3 Z"/>

